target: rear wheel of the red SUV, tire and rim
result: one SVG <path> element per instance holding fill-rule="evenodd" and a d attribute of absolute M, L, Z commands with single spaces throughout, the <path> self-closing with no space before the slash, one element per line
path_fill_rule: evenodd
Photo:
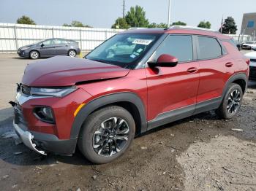
<path fill-rule="evenodd" d="M 239 98 L 235 98 L 236 93 L 238 93 Z M 241 86 L 234 83 L 230 84 L 227 93 L 222 100 L 222 104 L 216 110 L 217 115 L 226 120 L 234 117 L 241 107 L 242 100 L 243 90 L 241 89 Z"/>

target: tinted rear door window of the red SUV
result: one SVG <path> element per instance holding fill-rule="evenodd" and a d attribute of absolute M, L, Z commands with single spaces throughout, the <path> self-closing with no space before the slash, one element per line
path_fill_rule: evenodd
<path fill-rule="evenodd" d="M 198 36 L 198 59 L 218 58 L 222 55 L 222 47 L 215 38 Z"/>

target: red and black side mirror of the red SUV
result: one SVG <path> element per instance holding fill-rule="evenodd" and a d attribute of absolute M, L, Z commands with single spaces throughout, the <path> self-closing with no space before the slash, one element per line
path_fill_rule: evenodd
<path fill-rule="evenodd" d="M 150 67 L 175 67 L 178 64 L 178 58 L 172 56 L 163 54 L 160 55 L 159 58 L 157 58 L 156 63 L 149 62 L 148 66 Z"/>

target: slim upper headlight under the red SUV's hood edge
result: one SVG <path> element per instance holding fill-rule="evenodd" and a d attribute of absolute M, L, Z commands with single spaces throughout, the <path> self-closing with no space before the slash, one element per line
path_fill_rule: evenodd
<path fill-rule="evenodd" d="M 45 96 L 53 96 L 53 97 L 64 97 L 69 93 L 77 90 L 77 87 L 56 87 L 56 88 L 48 88 L 48 87 L 31 87 L 31 95 L 45 95 Z"/>

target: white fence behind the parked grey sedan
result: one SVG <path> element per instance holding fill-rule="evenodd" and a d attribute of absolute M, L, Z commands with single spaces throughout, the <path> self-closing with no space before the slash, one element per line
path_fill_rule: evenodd
<path fill-rule="evenodd" d="M 120 31 L 123 30 L 0 23 L 0 52 L 16 52 L 19 47 L 50 38 L 72 39 L 81 50 L 92 50 Z"/>

